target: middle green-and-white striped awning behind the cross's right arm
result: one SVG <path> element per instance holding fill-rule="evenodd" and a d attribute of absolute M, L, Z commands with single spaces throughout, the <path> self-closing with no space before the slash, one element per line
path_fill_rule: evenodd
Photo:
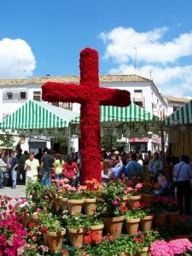
<path fill-rule="evenodd" d="M 156 117 L 144 108 L 131 103 L 128 107 L 101 106 L 101 123 L 104 122 L 136 122 L 151 121 Z M 73 123 L 79 123 L 79 117 L 73 119 Z"/>

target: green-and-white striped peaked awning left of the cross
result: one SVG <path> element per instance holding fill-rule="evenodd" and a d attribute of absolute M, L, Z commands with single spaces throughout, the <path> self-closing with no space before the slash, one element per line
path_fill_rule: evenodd
<path fill-rule="evenodd" d="M 0 129 L 38 130 L 68 127 L 78 113 L 45 102 L 29 101 L 0 123 Z"/>

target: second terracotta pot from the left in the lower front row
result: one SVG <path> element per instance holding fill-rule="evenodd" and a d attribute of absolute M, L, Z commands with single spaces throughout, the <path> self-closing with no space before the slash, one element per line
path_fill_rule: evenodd
<path fill-rule="evenodd" d="M 73 247 L 82 247 L 84 241 L 84 229 L 67 229 L 67 234 Z"/>

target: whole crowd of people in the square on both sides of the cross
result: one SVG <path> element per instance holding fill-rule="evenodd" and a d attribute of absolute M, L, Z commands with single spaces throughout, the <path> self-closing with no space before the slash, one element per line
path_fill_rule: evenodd
<path fill-rule="evenodd" d="M 154 191 L 155 195 L 167 195 L 172 189 L 177 188 L 177 201 L 180 212 L 190 213 L 192 167 L 189 164 L 189 156 L 183 155 L 179 159 L 167 158 L 170 166 L 172 183 L 167 182 L 163 161 L 160 151 L 148 153 L 144 156 L 139 151 L 125 152 L 114 149 L 102 150 L 101 177 L 102 183 L 109 183 L 113 178 L 131 180 L 132 177 L 140 176 L 143 170 L 148 173 L 149 182 L 156 183 L 159 189 Z M 80 153 L 63 156 L 59 153 L 53 154 L 48 148 L 39 148 L 38 154 L 20 149 L 14 151 L 7 159 L 4 153 L 0 153 L 0 189 L 10 186 L 15 189 L 16 184 L 26 184 L 29 181 L 40 180 L 43 185 L 50 186 L 51 183 L 61 183 L 64 178 L 68 183 L 77 187 L 81 173 Z M 183 203 L 184 202 L 184 203 Z M 184 206 L 184 207 L 183 207 Z"/>

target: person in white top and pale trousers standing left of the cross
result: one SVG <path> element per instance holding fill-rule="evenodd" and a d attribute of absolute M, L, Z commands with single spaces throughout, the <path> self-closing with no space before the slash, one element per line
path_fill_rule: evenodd
<path fill-rule="evenodd" d="M 34 157 L 34 153 L 29 153 L 29 159 L 26 160 L 24 170 L 26 171 L 26 184 L 30 181 L 38 181 L 39 161 Z"/>

